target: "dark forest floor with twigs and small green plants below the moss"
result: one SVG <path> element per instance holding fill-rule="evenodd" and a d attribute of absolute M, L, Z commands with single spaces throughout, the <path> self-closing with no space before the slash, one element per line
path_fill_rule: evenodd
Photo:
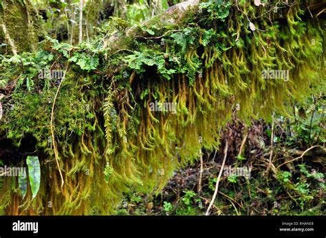
<path fill-rule="evenodd" d="M 271 147 L 268 136 L 271 128 L 260 121 L 244 129 L 241 123 L 228 128 L 231 146 L 210 214 L 326 215 L 325 148 L 314 147 L 305 152 L 304 160 L 287 163 L 304 153 L 298 150 L 298 144 L 284 147 L 285 139 Z M 281 135 L 274 133 L 276 137 Z M 243 153 L 237 156 L 239 150 Z M 271 150 L 274 169 L 268 168 Z M 203 152 L 202 164 L 199 160 L 176 171 L 159 193 L 125 195 L 116 215 L 205 215 L 223 157 L 223 150 Z M 242 169 L 243 174 L 239 175 L 236 170 L 232 174 L 232 169 L 237 168 Z"/>

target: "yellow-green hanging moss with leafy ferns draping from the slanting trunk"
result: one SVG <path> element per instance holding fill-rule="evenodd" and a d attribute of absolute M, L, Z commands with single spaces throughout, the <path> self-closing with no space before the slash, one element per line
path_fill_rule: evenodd
<path fill-rule="evenodd" d="M 43 62 L 40 68 L 56 60 L 64 69 L 70 62 L 54 110 L 65 185 L 49 126 L 58 82 L 38 80 L 31 69 L 3 102 L 1 130 L 17 145 L 26 134 L 36 138 L 41 187 L 34 200 L 30 193 L 22 200 L 17 181 L 4 178 L 3 213 L 111 213 L 131 187 L 160 191 L 173 171 L 198 158 L 202 147 L 216 148 L 237 104 L 244 120 L 268 118 L 274 110 L 286 114 L 287 100 L 304 97 L 314 80 L 325 78 L 320 63 L 325 20 L 306 17 L 301 4 L 284 19 L 269 21 L 265 8 L 245 1 L 238 7 L 248 17 L 235 3 L 208 3 L 180 26 L 138 28 L 118 51 L 48 39 L 43 51 L 29 56 L 34 65 Z M 6 69 L 19 75 L 18 62 L 3 60 L 1 75 Z M 265 80 L 266 69 L 288 70 L 289 78 Z M 177 110 L 151 110 L 157 102 L 173 103 Z"/>

